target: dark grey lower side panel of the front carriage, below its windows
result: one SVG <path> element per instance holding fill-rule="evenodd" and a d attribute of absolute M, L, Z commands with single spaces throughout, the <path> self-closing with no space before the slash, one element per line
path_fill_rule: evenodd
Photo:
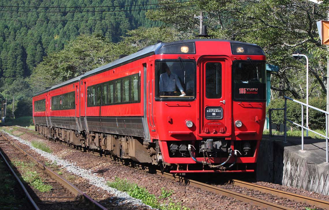
<path fill-rule="evenodd" d="M 141 117 L 87 117 L 89 131 L 144 137 Z M 84 127 L 84 123 L 82 123 Z"/>

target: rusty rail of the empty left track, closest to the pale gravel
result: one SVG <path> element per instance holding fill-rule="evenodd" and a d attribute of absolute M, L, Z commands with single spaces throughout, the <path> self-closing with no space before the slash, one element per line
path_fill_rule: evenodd
<path fill-rule="evenodd" d="M 2 135 L 0 132 L 0 135 L 6 140 L 9 141 L 11 145 L 13 145 L 16 149 L 18 149 L 20 152 L 22 152 L 24 155 L 26 155 L 32 162 L 34 162 L 36 165 L 38 165 L 41 169 L 46 171 L 51 177 L 53 177 L 56 181 L 58 181 L 60 184 L 62 184 L 64 187 L 66 187 L 71 193 L 73 193 L 75 196 L 80 197 L 84 199 L 85 201 L 89 202 L 91 206 L 94 207 L 94 209 L 101 209 L 101 210 L 107 210 L 104 206 L 99 204 L 97 201 L 89 197 L 87 194 L 82 192 L 80 189 L 75 187 L 73 184 L 68 182 L 65 178 L 60 176 L 59 174 L 52 171 L 50 168 L 43 165 L 41 162 L 39 162 L 37 159 L 32 157 L 29 153 L 27 153 L 24 149 L 19 147 L 17 144 L 15 144 L 13 141 L 8 139 L 6 136 Z"/>

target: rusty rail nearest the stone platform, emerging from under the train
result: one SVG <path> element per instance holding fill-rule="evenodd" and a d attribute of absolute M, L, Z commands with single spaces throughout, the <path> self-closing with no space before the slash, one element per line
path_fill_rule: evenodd
<path fill-rule="evenodd" d="M 265 187 L 265 186 L 261 186 L 261 185 L 241 181 L 241 180 L 238 180 L 238 179 L 233 179 L 232 183 L 234 185 L 237 185 L 237 186 L 240 186 L 240 187 L 244 187 L 244 188 L 252 189 L 252 190 L 257 190 L 257 191 L 260 191 L 262 193 L 271 194 L 273 196 L 285 197 L 285 198 L 288 198 L 290 200 L 294 200 L 296 202 L 307 203 L 309 205 L 316 206 L 318 208 L 329 209 L 329 202 L 326 201 L 326 200 L 320 200 L 320 199 L 317 199 L 317 198 L 306 197 L 306 196 L 298 195 L 298 194 L 295 194 L 295 193 L 289 193 L 289 192 L 285 192 L 285 191 L 282 191 L 282 190 L 273 189 L 273 188 L 269 188 L 269 187 Z"/>

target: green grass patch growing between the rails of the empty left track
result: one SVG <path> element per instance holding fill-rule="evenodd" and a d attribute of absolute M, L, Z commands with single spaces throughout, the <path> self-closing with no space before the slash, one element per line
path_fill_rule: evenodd
<path fill-rule="evenodd" d="M 34 163 L 13 161 L 13 165 L 21 171 L 22 179 L 35 189 L 38 189 L 40 192 L 49 192 L 52 189 L 51 185 L 43 183 L 37 171 L 33 171 L 33 167 L 35 167 Z"/>

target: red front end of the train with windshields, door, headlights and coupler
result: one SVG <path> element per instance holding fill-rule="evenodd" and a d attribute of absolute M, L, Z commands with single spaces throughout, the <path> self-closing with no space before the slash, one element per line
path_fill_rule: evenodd
<path fill-rule="evenodd" d="M 148 115 L 159 163 L 171 173 L 253 172 L 266 118 L 263 50 L 195 39 L 155 54 Z"/>

